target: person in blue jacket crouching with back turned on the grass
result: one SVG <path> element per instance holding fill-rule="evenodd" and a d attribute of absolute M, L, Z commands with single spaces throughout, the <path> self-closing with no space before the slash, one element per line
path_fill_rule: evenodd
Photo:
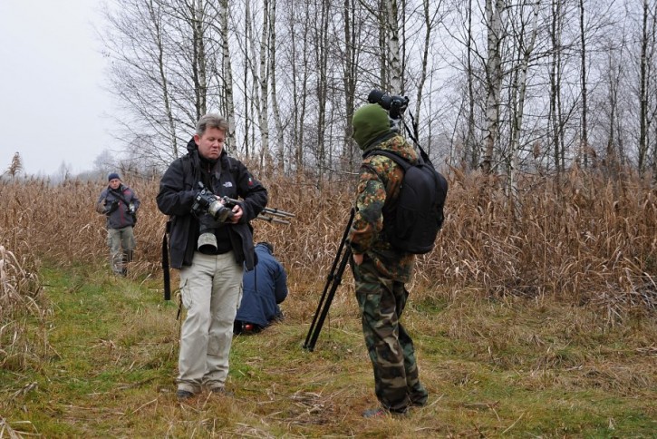
<path fill-rule="evenodd" d="M 237 309 L 236 334 L 258 332 L 283 317 L 278 307 L 287 298 L 285 268 L 268 242 L 256 245 L 257 265 L 243 278 L 242 303 Z"/>

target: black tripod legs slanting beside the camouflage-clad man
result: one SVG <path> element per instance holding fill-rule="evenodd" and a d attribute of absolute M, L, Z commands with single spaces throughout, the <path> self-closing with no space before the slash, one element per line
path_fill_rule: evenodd
<path fill-rule="evenodd" d="M 331 272 L 326 278 L 326 285 L 324 286 L 322 297 L 319 299 L 319 305 L 317 305 L 317 310 L 314 312 L 313 323 L 310 324 L 308 335 L 305 337 L 304 349 L 308 349 L 310 352 L 313 352 L 314 350 L 314 344 L 317 342 L 317 337 L 319 337 L 319 333 L 324 325 L 324 319 L 326 318 L 326 314 L 328 314 L 329 307 L 331 307 L 333 296 L 335 296 L 335 290 L 343 281 L 344 268 L 347 266 L 349 259 L 352 258 L 352 249 L 344 244 L 347 241 L 349 229 L 352 227 L 353 216 L 355 213 L 356 210 L 352 208 L 349 222 L 347 222 L 347 227 L 344 229 L 343 240 L 340 241 L 340 247 L 338 247 L 337 254 L 333 260 Z M 336 267 L 338 268 L 337 271 L 335 271 Z M 328 295 L 326 294 L 327 291 Z"/>

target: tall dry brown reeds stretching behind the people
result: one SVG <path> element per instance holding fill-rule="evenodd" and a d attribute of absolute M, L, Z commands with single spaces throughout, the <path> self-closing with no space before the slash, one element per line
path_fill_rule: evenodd
<path fill-rule="evenodd" d="M 159 180 L 124 177 L 142 202 L 130 276 L 159 277 L 167 219 L 155 203 Z M 255 239 L 275 245 L 300 290 L 316 289 L 343 236 L 353 178 L 321 185 L 272 172 L 259 178 L 269 206 L 295 218 L 290 225 L 254 221 Z M 452 170 L 448 180 L 445 225 L 435 249 L 418 258 L 410 286 L 418 298 L 469 290 L 482 297 L 591 303 L 606 307 L 610 317 L 657 311 L 657 190 L 649 181 L 574 169 L 560 180 L 526 176 L 509 197 L 494 177 Z M 93 210 L 105 184 L 27 180 L 2 186 L 3 236 L 19 250 L 17 259 L 31 249 L 57 266 L 107 264 L 105 219 Z"/>

